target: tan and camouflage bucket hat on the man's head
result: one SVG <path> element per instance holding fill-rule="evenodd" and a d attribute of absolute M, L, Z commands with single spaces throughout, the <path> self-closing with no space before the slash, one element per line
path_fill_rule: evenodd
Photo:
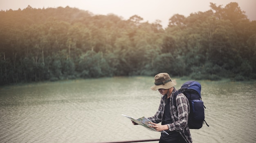
<path fill-rule="evenodd" d="M 153 91 L 157 89 L 170 89 L 176 85 L 176 80 L 171 80 L 169 74 L 159 73 L 155 75 L 155 85 L 150 87 Z"/>

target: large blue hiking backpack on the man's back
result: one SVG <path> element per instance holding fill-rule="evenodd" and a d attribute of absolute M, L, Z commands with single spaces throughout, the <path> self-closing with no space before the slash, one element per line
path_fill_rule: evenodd
<path fill-rule="evenodd" d="M 173 95 L 173 104 L 176 105 L 176 96 L 179 93 L 183 93 L 189 100 L 190 113 L 188 125 L 190 129 L 200 129 L 202 128 L 204 122 L 209 127 L 209 125 L 204 120 L 204 102 L 201 97 L 201 85 L 197 81 L 187 81 L 181 88 L 176 91 Z"/>

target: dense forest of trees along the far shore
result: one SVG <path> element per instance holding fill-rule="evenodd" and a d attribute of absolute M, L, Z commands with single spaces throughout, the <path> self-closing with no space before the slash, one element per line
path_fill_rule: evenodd
<path fill-rule="evenodd" d="M 113 76 L 256 79 L 256 21 L 238 3 L 128 20 L 70 8 L 0 11 L 0 85 Z M 168 13 L 166 13 L 168 14 Z"/>

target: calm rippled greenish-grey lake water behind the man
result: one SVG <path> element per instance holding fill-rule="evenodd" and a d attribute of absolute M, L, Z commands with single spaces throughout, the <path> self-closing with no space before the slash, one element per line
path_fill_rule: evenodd
<path fill-rule="evenodd" d="M 185 80 L 176 79 L 179 89 Z M 41 82 L 0 87 L 0 143 L 96 143 L 158 139 L 121 114 L 155 114 L 153 77 Z M 256 82 L 199 81 L 210 125 L 194 143 L 256 143 Z M 155 142 L 156 143 L 156 142 Z"/>

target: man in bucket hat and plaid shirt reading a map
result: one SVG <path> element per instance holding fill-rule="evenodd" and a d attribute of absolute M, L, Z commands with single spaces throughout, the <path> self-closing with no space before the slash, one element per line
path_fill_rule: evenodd
<path fill-rule="evenodd" d="M 158 111 L 153 117 L 153 127 L 157 131 L 165 130 L 168 134 L 161 133 L 159 143 L 192 143 L 188 126 L 189 101 L 183 93 L 176 97 L 176 105 L 173 105 L 173 94 L 176 80 L 171 80 L 169 74 L 159 73 L 155 76 L 155 85 L 150 87 L 153 91 L 158 90 L 163 95 Z M 162 122 L 162 124 L 157 124 Z"/>

